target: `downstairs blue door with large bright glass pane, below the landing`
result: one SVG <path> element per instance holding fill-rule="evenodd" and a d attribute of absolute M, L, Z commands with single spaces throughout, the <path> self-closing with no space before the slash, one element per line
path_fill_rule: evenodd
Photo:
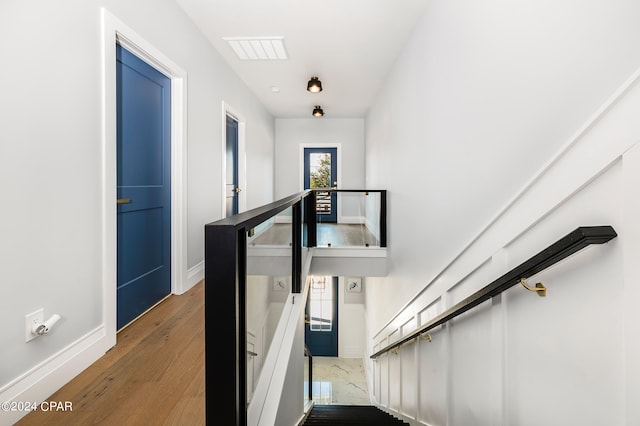
<path fill-rule="evenodd" d="M 312 277 L 304 341 L 313 356 L 338 356 L 338 277 Z"/>

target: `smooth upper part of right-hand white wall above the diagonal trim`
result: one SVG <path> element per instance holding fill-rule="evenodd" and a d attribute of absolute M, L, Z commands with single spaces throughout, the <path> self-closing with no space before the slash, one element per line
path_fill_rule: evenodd
<path fill-rule="evenodd" d="M 370 307 L 374 329 L 640 66 L 639 9 L 430 3 L 366 117 L 366 185 L 390 191 L 391 276 L 376 286 L 385 303 Z"/>

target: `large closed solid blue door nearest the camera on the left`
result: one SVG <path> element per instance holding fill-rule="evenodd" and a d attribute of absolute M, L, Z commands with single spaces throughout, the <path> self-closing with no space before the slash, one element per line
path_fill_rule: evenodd
<path fill-rule="evenodd" d="M 171 292 L 171 80 L 116 51 L 121 329 Z"/>

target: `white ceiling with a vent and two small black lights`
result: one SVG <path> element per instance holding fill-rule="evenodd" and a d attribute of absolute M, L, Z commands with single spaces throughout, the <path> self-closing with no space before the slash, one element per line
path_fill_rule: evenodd
<path fill-rule="evenodd" d="M 176 0 L 276 118 L 364 117 L 427 0 Z M 223 37 L 284 37 L 288 60 L 240 60 Z M 307 92 L 318 76 L 323 91 Z M 279 89 L 278 92 L 272 90 Z"/>

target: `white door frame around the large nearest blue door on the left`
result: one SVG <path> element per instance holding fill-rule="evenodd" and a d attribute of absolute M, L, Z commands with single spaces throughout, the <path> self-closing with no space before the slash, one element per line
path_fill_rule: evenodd
<path fill-rule="evenodd" d="M 187 289 L 187 73 L 118 18 L 102 9 L 102 286 L 105 350 L 116 344 L 116 43 L 171 79 L 171 292 Z"/>

